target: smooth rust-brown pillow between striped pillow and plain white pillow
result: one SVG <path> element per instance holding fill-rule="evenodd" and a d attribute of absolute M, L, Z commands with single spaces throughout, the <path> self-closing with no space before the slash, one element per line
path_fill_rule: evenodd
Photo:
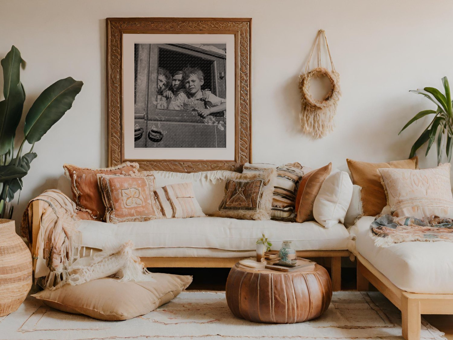
<path fill-rule="evenodd" d="M 329 163 L 322 168 L 310 171 L 302 177 L 296 197 L 296 222 L 303 223 L 314 219 L 314 200 L 331 170 L 332 163 Z"/>

